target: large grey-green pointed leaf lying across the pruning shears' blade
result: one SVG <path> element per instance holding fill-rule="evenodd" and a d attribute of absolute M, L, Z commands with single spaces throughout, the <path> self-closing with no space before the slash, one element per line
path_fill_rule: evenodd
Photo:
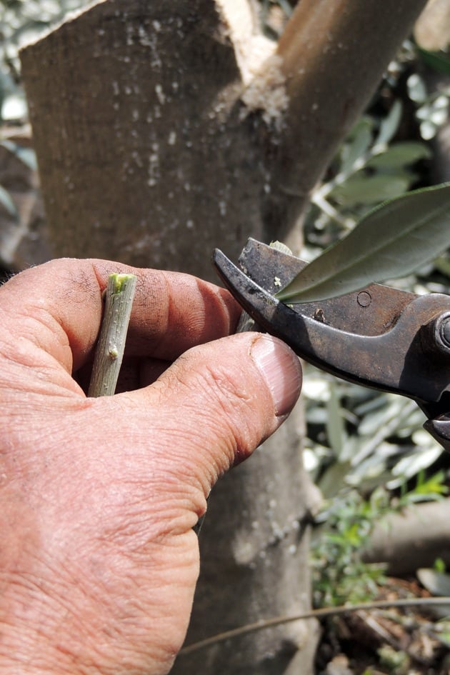
<path fill-rule="evenodd" d="M 381 204 L 306 265 L 277 298 L 312 302 L 406 276 L 450 246 L 450 183 Z"/>

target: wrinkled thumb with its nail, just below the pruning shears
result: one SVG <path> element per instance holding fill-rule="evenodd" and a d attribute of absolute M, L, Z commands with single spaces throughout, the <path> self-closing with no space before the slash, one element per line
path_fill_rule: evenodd
<path fill-rule="evenodd" d="M 157 410 L 165 461 L 169 452 L 182 475 L 187 471 L 208 491 L 278 429 L 300 389 L 299 359 L 286 344 L 243 333 L 186 351 L 154 385 L 134 394 Z"/>

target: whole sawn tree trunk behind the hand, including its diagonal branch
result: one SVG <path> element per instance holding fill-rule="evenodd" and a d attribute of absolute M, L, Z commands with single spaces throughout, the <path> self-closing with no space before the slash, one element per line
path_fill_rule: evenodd
<path fill-rule="evenodd" d="M 53 254 L 214 278 L 214 246 L 236 258 L 252 235 L 297 248 L 305 195 L 424 4 L 301 0 L 273 54 L 247 0 L 104 0 L 28 46 Z M 302 434 L 298 407 L 214 490 L 188 642 L 309 609 Z M 315 639 L 314 624 L 288 624 L 181 655 L 174 672 L 308 675 Z"/>

